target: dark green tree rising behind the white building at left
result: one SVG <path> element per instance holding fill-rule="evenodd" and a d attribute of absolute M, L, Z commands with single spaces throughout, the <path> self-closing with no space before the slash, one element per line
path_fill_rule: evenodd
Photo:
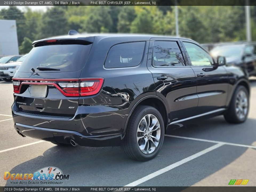
<path fill-rule="evenodd" d="M 0 10 L 0 19 L 16 20 L 18 44 L 21 45 L 26 34 L 24 13 L 16 6 L 9 6 L 8 9 Z"/>

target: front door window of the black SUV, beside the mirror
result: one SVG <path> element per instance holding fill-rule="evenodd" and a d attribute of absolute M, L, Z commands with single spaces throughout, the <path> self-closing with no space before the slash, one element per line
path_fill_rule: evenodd
<path fill-rule="evenodd" d="M 189 42 L 183 42 L 183 44 L 189 54 L 192 66 L 210 66 L 213 64 L 213 59 L 201 47 Z"/>

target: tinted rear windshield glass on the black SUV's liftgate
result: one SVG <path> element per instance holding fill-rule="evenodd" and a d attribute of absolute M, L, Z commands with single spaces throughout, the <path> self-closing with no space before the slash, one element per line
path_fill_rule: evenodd
<path fill-rule="evenodd" d="M 19 67 L 19 72 L 37 73 L 69 72 L 81 70 L 90 53 L 90 45 L 46 45 L 34 47 Z M 38 70 L 37 67 L 51 67 L 59 70 Z"/>

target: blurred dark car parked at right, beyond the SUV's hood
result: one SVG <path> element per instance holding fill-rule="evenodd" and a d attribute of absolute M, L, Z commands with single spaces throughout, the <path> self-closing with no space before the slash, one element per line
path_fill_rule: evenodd
<path fill-rule="evenodd" d="M 228 65 L 235 65 L 247 70 L 250 76 L 256 76 L 256 43 L 222 43 L 211 50 L 212 56 L 226 57 Z"/>

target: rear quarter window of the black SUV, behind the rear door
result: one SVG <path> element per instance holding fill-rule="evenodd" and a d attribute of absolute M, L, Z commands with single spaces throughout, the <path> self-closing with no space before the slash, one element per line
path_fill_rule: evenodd
<path fill-rule="evenodd" d="M 134 67 L 141 63 L 145 42 L 131 42 L 114 45 L 110 48 L 105 68 Z"/>

